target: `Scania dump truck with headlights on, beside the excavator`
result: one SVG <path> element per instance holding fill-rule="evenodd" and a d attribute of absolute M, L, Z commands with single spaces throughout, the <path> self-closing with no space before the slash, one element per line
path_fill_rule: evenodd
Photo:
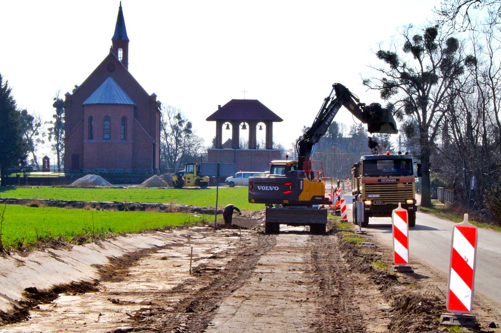
<path fill-rule="evenodd" d="M 409 154 L 387 151 L 362 156 L 351 173 L 354 224 L 360 219 L 361 225 L 367 226 L 369 217 L 391 216 L 400 203 L 407 209 L 409 227 L 416 225 L 415 177 L 421 176 L 421 163 L 414 163 Z M 357 212 L 361 207 L 363 212 Z"/>

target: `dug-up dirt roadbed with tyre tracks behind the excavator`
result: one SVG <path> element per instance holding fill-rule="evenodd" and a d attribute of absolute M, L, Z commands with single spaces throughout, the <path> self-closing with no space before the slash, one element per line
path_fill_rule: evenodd
<path fill-rule="evenodd" d="M 353 233 L 341 231 L 180 231 L 174 243 L 100 266 L 92 291 L 62 293 L 0 331 L 438 331 L 444 299 L 426 290 L 429 280 L 424 287 L 430 276 L 376 269 L 388 255 L 343 241 Z"/>

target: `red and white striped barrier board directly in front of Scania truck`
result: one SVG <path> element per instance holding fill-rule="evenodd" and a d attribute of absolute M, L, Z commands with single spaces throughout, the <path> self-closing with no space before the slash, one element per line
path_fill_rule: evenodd
<path fill-rule="evenodd" d="M 393 224 L 393 262 L 403 266 L 409 263 L 409 238 L 408 238 L 407 210 L 398 203 L 398 208 L 391 213 Z"/>

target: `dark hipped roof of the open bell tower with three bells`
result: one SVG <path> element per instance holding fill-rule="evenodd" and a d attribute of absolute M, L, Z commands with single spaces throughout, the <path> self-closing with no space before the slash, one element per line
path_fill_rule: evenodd
<path fill-rule="evenodd" d="M 231 99 L 205 120 L 284 121 L 257 99 Z"/>

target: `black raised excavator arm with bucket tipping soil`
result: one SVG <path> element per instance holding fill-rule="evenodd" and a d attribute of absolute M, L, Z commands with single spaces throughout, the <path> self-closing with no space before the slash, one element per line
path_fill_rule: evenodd
<path fill-rule="evenodd" d="M 334 96 L 332 96 L 333 92 Z M 312 126 L 296 142 L 300 169 L 303 169 L 304 162 L 311 159 L 313 147 L 327 132 L 341 106 L 346 107 L 357 119 L 366 123 L 371 133 L 396 134 L 398 132 L 391 110 L 382 108 L 379 103 L 366 106 L 365 103 L 360 103 L 360 99 L 347 87 L 341 83 L 334 83 L 331 93 L 324 99 Z"/>

